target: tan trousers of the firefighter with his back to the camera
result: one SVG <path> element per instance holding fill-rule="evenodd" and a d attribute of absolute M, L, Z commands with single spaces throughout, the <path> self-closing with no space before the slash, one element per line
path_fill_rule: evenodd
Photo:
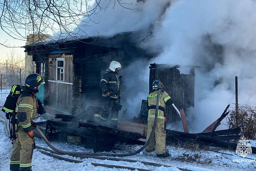
<path fill-rule="evenodd" d="M 151 135 L 151 131 L 154 127 L 154 121 L 147 121 L 147 140 Z M 151 152 L 154 150 L 156 154 L 166 153 L 166 130 L 165 130 L 165 121 L 158 119 L 156 123 L 156 128 L 154 130 L 154 136 L 151 139 L 151 142 L 147 145 L 146 151 Z"/>

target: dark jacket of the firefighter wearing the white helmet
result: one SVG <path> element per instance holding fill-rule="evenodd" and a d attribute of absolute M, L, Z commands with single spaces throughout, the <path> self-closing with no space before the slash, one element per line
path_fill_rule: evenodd
<path fill-rule="evenodd" d="M 102 89 L 102 96 L 105 96 L 105 94 L 109 92 L 110 98 L 119 98 L 120 78 L 117 73 L 107 69 L 102 75 L 100 87 Z"/>

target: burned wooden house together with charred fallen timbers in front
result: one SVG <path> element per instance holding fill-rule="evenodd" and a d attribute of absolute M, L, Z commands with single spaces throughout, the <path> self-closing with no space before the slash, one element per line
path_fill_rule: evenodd
<path fill-rule="evenodd" d="M 116 141 L 144 144 L 139 138 L 145 138 L 147 135 L 145 123 L 121 120 L 118 121 L 117 128 L 111 128 L 87 122 L 88 113 L 83 112 L 83 106 L 101 107 L 99 80 L 112 60 L 119 61 L 123 68 L 126 68 L 141 58 L 148 60 L 154 57 L 136 46 L 141 39 L 134 37 L 143 36 L 134 36 L 134 34 L 130 32 L 114 36 L 80 37 L 25 46 L 28 55 L 32 55 L 33 61 L 36 62 L 37 73 L 45 78 L 45 84 L 41 87 L 38 98 L 44 102 L 48 113 L 57 114 L 55 118 L 61 119 L 38 123 L 45 128 L 46 135 L 58 137 L 56 134 L 64 132 L 67 135 L 66 140 L 70 136 L 79 137 L 80 142 L 93 145 L 94 152 L 111 149 Z M 186 113 L 186 109 L 194 106 L 193 69 L 189 74 L 182 74 L 178 66 L 150 64 L 149 92 L 154 80 L 163 82 L 164 91 L 173 97 L 177 108 L 183 108 Z M 142 102 L 138 115 L 144 116 L 147 120 L 147 101 L 140 100 Z M 189 114 L 186 113 L 187 116 Z M 225 110 L 224 115 L 226 114 Z M 180 120 L 180 116 L 172 107 L 167 107 L 166 115 L 167 122 Z M 81 116 L 85 120 L 81 120 Z M 224 143 L 225 146 L 234 146 L 223 141 L 239 138 L 240 128 L 215 132 L 220 121 L 221 119 L 216 120 L 206 129 L 207 131 L 200 134 L 166 130 L 167 144 L 175 141 L 199 140 L 199 143 L 203 142 L 206 145 Z"/>

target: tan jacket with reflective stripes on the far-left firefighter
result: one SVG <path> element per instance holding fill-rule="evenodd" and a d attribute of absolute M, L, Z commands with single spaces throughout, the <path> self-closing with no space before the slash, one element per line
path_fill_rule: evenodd
<path fill-rule="evenodd" d="M 37 114 L 36 96 L 28 91 L 22 91 L 16 105 L 16 119 L 18 126 L 21 126 L 25 132 L 32 131 L 31 121 Z"/>

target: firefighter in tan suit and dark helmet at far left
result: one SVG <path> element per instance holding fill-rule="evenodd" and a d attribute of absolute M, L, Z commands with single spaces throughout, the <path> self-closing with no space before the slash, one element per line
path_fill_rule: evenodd
<path fill-rule="evenodd" d="M 41 84 L 45 82 L 39 74 L 30 74 L 26 77 L 25 86 L 18 98 L 15 109 L 17 139 L 11 153 L 11 171 L 32 171 L 32 155 L 35 147 L 33 127 L 36 127 L 33 120 L 37 114 L 36 93 Z"/>

